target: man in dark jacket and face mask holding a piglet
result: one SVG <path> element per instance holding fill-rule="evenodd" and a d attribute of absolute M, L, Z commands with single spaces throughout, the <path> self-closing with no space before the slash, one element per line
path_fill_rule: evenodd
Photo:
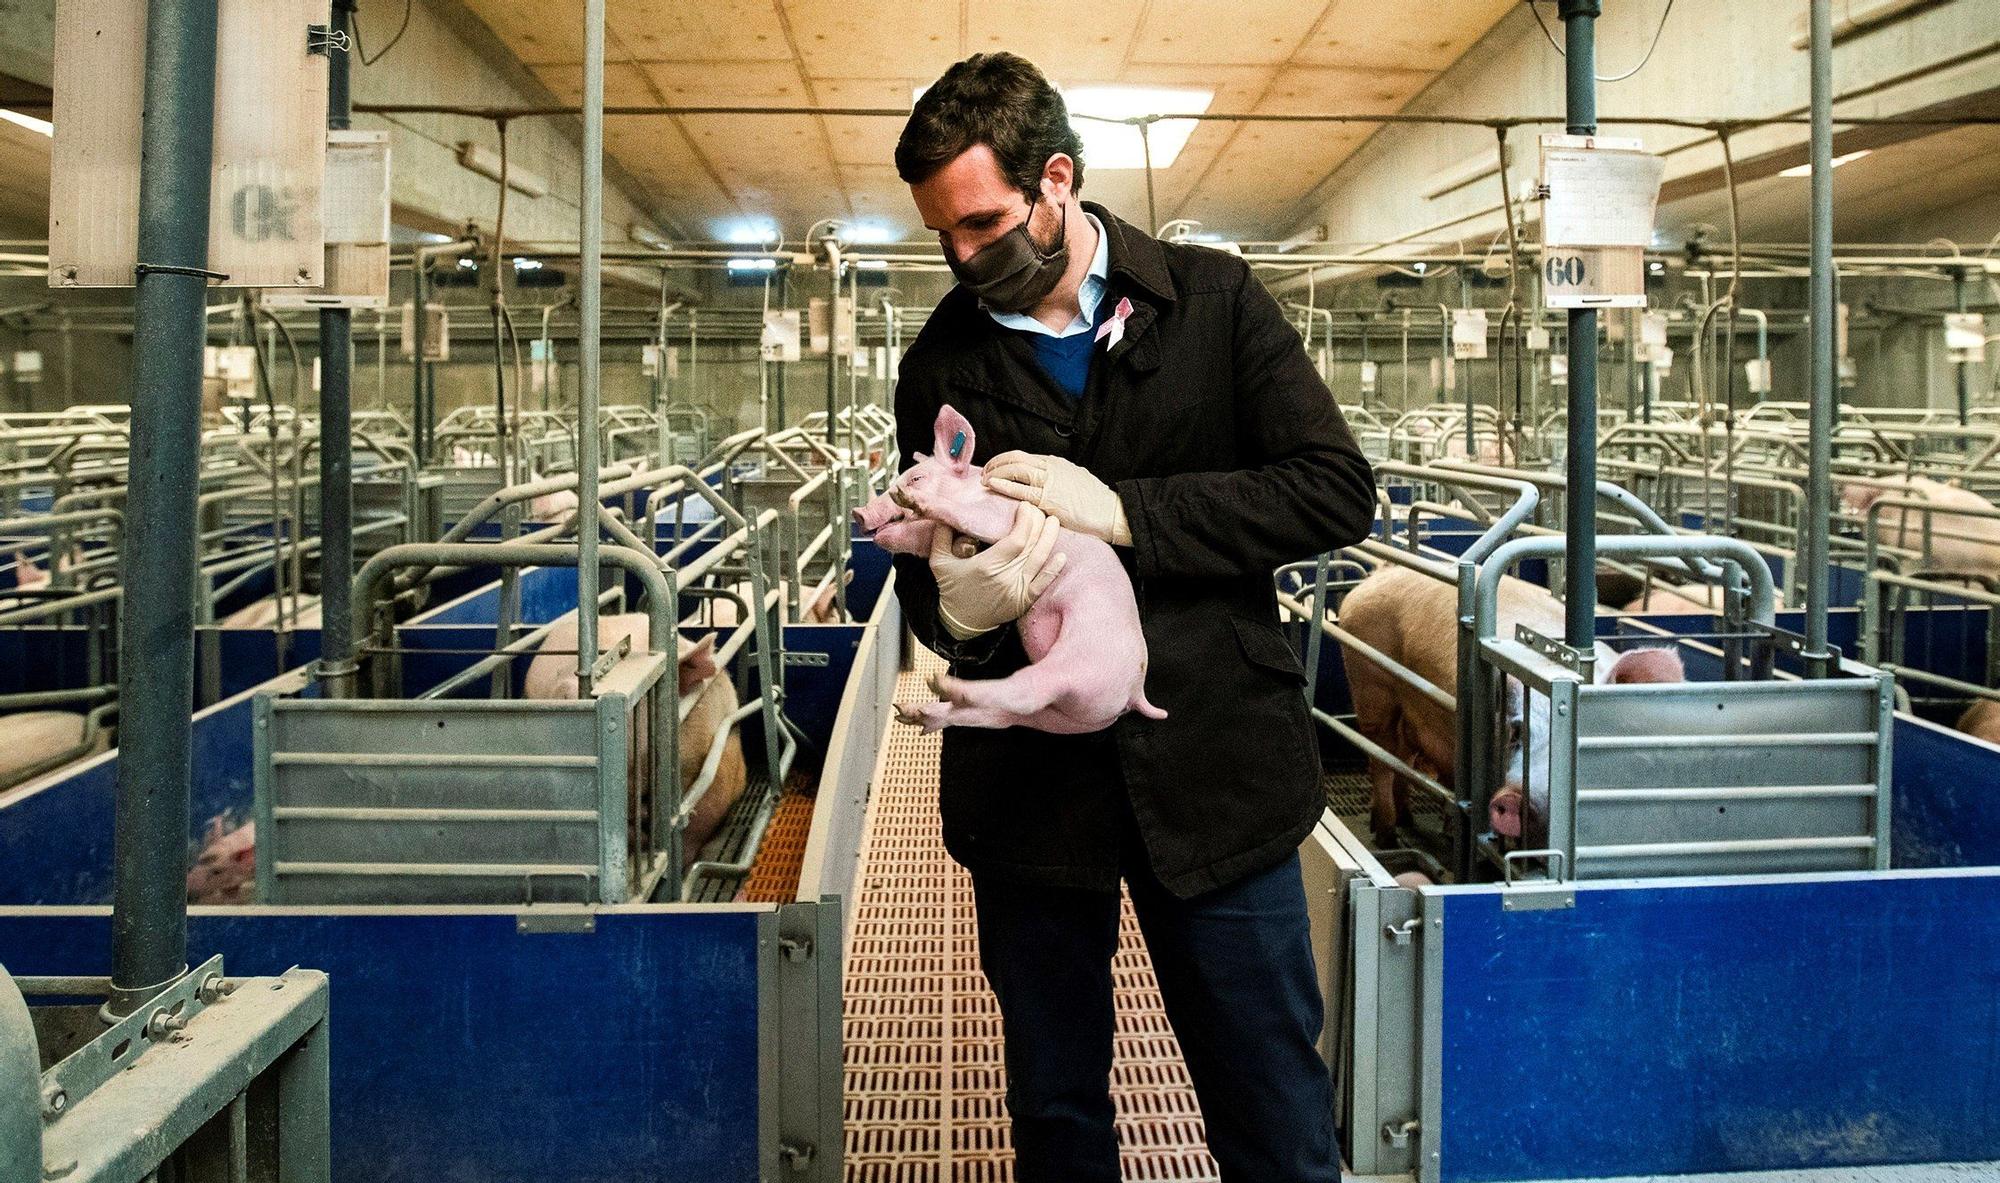
<path fill-rule="evenodd" d="M 1334 1183 L 1298 869 L 1324 799 L 1272 570 L 1368 534 L 1368 462 L 1242 260 L 1078 202 L 1082 144 L 1026 60 L 946 70 L 896 170 L 960 280 L 902 362 L 904 464 L 950 402 L 994 454 L 990 488 L 1022 502 L 974 558 L 896 558 L 912 629 L 962 677 L 1018 669 L 1010 623 L 1054 574 L 1060 522 L 1130 568 L 1146 695 L 1170 715 L 944 733 L 944 841 L 972 873 L 1004 1019 L 1016 1177 L 1118 1179 L 1122 877 L 1222 1177 Z"/>

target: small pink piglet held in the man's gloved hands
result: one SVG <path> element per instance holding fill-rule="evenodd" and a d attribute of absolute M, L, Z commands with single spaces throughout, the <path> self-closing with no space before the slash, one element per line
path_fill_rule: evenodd
<path fill-rule="evenodd" d="M 952 456 L 954 440 L 962 440 Z M 916 466 L 854 512 L 862 530 L 894 554 L 928 556 L 934 530 L 992 544 L 1014 526 L 1020 502 L 986 488 L 972 468 L 972 424 L 950 406 L 938 412 L 934 452 L 916 454 Z M 904 723 L 924 731 L 940 727 L 1034 727 L 1076 735 L 1102 731 L 1118 715 L 1138 711 L 1164 719 L 1146 701 L 1146 635 L 1138 623 L 1132 578 L 1108 542 L 1064 530 L 1056 542 L 1064 556 L 1028 615 L 1020 617 L 1020 643 L 1028 667 L 998 679 L 938 677 L 938 701 L 896 705 Z"/>

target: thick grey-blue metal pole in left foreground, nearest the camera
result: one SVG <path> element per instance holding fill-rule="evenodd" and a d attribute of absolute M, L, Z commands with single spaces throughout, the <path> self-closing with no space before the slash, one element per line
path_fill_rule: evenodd
<path fill-rule="evenodd" d="M 118 671 L 110 1013 L 188 969 L 194 504 L 208 336 L 216 0 L 146 6 L 144 154 L 132 294 L 132 468 Z M 172 270 L 158 270 L 172 268 Z"/>

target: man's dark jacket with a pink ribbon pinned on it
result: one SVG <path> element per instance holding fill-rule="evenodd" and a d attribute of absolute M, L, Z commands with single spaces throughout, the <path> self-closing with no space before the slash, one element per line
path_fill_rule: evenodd
<path fill-rule="evenodd" d="M 976 432 L 974 464 L 1054 454 L 1118 492 L 1146 695 L 1170 717 L 1126 713 L 1094 735 L 950 727 L 938 807 L 946 849 L 978 873 L 1116 889 L 1126 797 L 1154 873 L 1186 897 L 1276 865 L 1320 815 L 1306 673 L 1278 629 L 1272 570 L 1364 538 L 1372 474 L 1248 264 L 1086 208 L 1110 240 L 1106 304 L 1130 296 L 1132 314 L 1084 398 L 954 288 L 902 360 L 898 444 L 910 466 L 952 404 Z M 954 673 L 1002 677 L 1026 661 L 1012 627 L 956 645 L 922 558 L 896 556 L 896 592 Z"/>

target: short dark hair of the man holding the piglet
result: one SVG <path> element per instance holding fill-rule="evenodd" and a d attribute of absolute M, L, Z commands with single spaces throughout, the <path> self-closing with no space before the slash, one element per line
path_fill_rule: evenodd
<path fill-rule="evenodd" d="M 1042 166 L 1058 152 L 1076 162 L 1074 188 L 1084 188 L 1084 138 L 1028 58 L 972 54 L 932 82 L 896 140 L 896 174 L 922 184 L 974 144 L 986 144 L 1000 176 L 1024 194 L 1038 192 Z"/>

